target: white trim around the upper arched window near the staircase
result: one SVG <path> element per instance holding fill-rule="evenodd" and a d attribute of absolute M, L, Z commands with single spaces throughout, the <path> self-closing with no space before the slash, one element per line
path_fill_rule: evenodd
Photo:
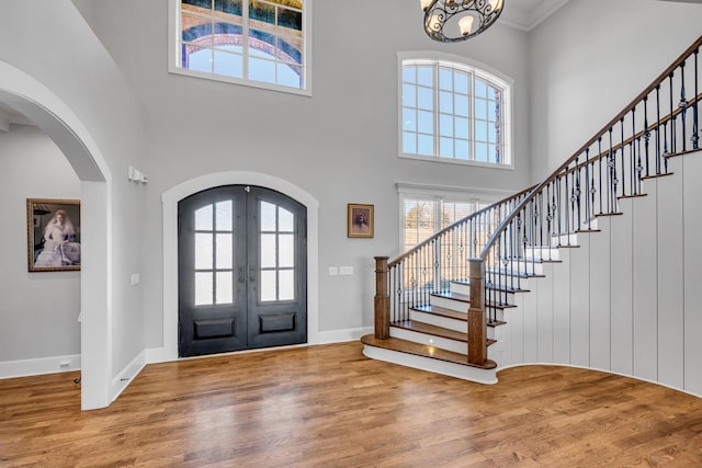
<path fill-rule="evenodd" d="M 464 159 L 449 159 L 449 158 L 440 158 L 438 156 L 427 157 L 420 155 L 411 155 L 403 152 L 403 61 L 404 60 L 416 60 L 421 61 L 422 59 L 428 60 L 433 65 L 434 61 L 450 61 L 456 66 L 457 68 L 463 68 L 464 70 L 474 73 L 476 77 L 486 80 L 488 82 L 494 82 L 503 89 L 502 93 L 502 104 L 508 112 L 502 116 L 502 122 L 505 124 L 505 155 L 509 158 L 509 163 L 492 163 L 492 162 L 482 162 L 482 161 L 473 161 L 473 160 L 464 160 Z M 514 153 L 512 141 L 514 140 L 514 126 L 512 123 L 512 115 L 514 114 L 513 107 L 513 87 L 514 80 L 508 77 L 507 75 L 485 65 L 477 60 L 473 60 L 467 57 L 463 57 L 455 54 L 448 54 L 442 52 L 434 50 L 423 50 L 423 52 L 398 52 L 397 53 L 397 153 L 400 158 L 406 159 L 415 159 L 426 162 L 442 162 L 449 164 L 464 164 L 464 165 L 476 165 L 482 168 L 490 168 L 490 169 L 514 169 Z M 472 100 L 473 101 L 473 100 Z"/>

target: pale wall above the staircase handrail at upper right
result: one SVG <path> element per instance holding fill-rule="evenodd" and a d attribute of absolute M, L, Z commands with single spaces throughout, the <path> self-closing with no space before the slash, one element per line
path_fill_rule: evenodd
<path fill-rule="evenodd" d="M 533 31 L 534 180 L 555 170 L 650 84 L 699 37 L 701 20 L 701 4 L 570 0 Z"/>

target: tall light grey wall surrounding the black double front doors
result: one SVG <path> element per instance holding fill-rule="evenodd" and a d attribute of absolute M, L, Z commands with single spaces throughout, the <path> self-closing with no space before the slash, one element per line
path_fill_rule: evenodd
<path fill-rule="evenodd" d="M 160 196 L 215 172 L 285 180 L 319 206 L 319 328 L 370 327 L 373 255 L 398 250 L 396 182 L 517 190 L 529 180 L 525 33 L 496 25 L 468 43 L 430 41 L 419 5 L 406 0 L 318 0 L 313 7 L 313 96 L 172 76 L 167 71 L 167 1 L 77 1 L 149 115 L 144 225 L 147 346 L 161 345 L 163 239 Z M 138 12 L 138 13 L 137 13 Z M 372 12 L 372 14 L 369 14 Z M 516 170 L 397 158 L 397 52 L 441 50 L 514 80 Z M 348 203 L 375 205 L 375 238 L 346 237 Z M 350 265 L 354 276 L 327 276 Z"/>

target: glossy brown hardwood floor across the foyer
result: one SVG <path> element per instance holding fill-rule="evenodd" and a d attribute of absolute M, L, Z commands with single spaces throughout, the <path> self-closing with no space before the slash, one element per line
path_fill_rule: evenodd
<path fill-rule="evenodd" d="M 484 386 L 354 342 L 149 365 L 89 412 L 76 376 L 0 380 L 0 466 L 702 466 L 702 399 L 591 370 Z"/>

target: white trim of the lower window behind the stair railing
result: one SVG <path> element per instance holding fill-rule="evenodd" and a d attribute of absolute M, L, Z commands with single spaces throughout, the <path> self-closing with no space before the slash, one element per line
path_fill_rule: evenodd
<path fill-rule="evenodd" d="M 405 199 L 406 198 L 434 198 L 448 202 L 472 202 L 494 204 L 512 195 L 513 191 L 498 189 L 457 187 L 451 185 L 429 185 L 409 182 L 395 184 L 398 193 L 398 227 L 399 227 L 399 253 L 405 250 Z"/>

